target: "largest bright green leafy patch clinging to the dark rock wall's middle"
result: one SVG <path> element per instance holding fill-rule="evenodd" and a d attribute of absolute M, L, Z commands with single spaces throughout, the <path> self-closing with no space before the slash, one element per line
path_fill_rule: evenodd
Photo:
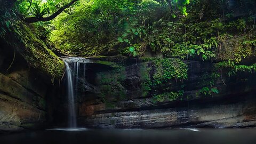
<path fill-rule="evenodd" d="M 172 79 L 178 82 L 178 80 L 183 81 L 188 77 L 188 67 L 186 63 L 179 59 L 143 58 L 142 61 L 149 63 L 151 61 L 151 65 L 142 65 L 140 68 L 143 97 L 149 95 L 150 91 L 172 81 Z"/>

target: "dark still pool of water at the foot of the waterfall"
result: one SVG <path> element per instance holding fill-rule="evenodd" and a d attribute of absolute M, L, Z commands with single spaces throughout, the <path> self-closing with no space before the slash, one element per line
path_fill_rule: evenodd
<path fill-rule="evenodd" d="M 0 136 L 0 143 L 225 143 L 255 144 L 256 129 L 51 129 Z"/>

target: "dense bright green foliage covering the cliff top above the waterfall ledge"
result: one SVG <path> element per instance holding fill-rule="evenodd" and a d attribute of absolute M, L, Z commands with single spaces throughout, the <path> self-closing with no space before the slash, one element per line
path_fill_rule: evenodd
<path fill-rule="evenodd" d="M 79 1 L 48 26 L 57 47 L 77 55 L 153 52 L 237 62 L 251 53 L 249 43 L 255 44 L 254 6 L 254 1 Z"/>

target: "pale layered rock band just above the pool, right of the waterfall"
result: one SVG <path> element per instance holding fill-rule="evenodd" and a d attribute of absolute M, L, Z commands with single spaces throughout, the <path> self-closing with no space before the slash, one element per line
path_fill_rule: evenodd
<path fill-rule="evenodd" d="M 162 108 L 117 110 L 79 120 L 82 125 L 100 128 L 254 127 L 255 111 L 246 114 L 250 109 L 255 110 L 255 98 L 252 99 L 235 103 L 190 101 L 182 103 L 181 107 L 172 103 Z"/>

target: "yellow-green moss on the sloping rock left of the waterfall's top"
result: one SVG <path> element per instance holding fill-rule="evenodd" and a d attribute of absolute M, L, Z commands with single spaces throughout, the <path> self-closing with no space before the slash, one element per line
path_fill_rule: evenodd
<path fill-rule="evenodd" d="M 13 46 L 23 55 L 27 62 L 52 77 L 53 79 L 60 79 L 65 65 L 63 61 L 57 57 L 46 46 L 43 41 L 44 33 L 35 25 L 30 25 L 23 22 L 16 22 L 13 25 L 15 37 L 18 43 Z M 15 45 L 17 44 L 17 45 Z"/>

